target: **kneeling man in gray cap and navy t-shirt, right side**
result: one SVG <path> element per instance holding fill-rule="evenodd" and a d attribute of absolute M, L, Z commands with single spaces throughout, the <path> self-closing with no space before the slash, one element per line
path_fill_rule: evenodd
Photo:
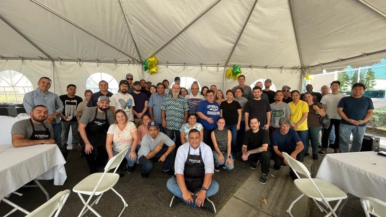
<path fill-rule="evenodd" d="M 303 143 L 297 132 L 293 130 L 291 121 L 287 117 L 282 117 L 279 120 L 279 130 L 275 130 L 272 133 L 272 145 L 273 145 L 273 160 L 275 162 L 274 169 L 280 170 L 280 167 L 288 165 L 288 162 L 284 158 L 282 152 L 288 153 L 293 159 L 301 161 L 303 158 L 302 150 L 304 148 Z M 292 179 L 296 179 L 296 174 L 290 169 L 290 176 Z"/>

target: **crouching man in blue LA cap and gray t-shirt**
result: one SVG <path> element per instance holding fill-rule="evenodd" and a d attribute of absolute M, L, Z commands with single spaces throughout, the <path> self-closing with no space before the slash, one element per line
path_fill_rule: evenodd
<path fill-rule="evenodd" d="M 164 162 L 162 173 L 173 176 L 174 148 L 176 145 L 166 134 L 159 131 L 159 124 L 151 121 L 147 124 L 149 133 L 141 141 L 138 159 L 141 165 L 141 176 L 147 178 L 153 169 L 154 162 Z"/>

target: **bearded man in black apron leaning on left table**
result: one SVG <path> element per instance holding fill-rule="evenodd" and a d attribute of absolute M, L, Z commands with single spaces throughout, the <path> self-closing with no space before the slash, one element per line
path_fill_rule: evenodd
<path fill-rule="evenodd" d="M 52 126 L 46 121 L 47 107 L 35 106 L 30 112 L 30 119 L 16 122 L 12 126 L 12 145 L 24 147 L 39 144 L 56 144 L 53 138 Z"/>

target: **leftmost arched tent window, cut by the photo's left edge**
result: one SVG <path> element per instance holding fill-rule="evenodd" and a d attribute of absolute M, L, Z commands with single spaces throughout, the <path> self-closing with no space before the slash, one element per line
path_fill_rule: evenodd
<path fill-rule="evenodd" d="M 0 72 L 0 102 L 23 103 L 24 94 L 32 90 L 32 83 L 23 74 L 13 70 Z"/>

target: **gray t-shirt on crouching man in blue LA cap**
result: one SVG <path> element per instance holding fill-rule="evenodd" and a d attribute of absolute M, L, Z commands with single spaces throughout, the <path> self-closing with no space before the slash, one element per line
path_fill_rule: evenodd
<path fill-rule="evenodd" d="M 141 156 L 146 156 L 148 153 L 153 151 L 155 149 L 155 146 L 158 145 L 159 141 L 161 141 L 167 145 L 172 146 L 174 145 L 174 141 L 169 138 L 169 136 L 165 135 L 163 132 L 158 132 L 157 137 L 153 139 L 149 133 L 147 133 L 144 138 L 142 138 L 141 141 L 141 148 L 138 151 L 138 159 L 140 159 Z"/>

